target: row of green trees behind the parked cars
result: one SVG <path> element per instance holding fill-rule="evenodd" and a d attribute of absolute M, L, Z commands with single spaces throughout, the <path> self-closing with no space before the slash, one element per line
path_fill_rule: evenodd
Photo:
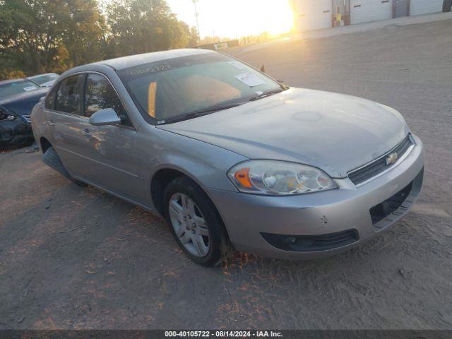
<path fill-rule="evenodd" d="M 195 47 L 165 0 L 0 0 L 0 80 L 93 61 Z"/>

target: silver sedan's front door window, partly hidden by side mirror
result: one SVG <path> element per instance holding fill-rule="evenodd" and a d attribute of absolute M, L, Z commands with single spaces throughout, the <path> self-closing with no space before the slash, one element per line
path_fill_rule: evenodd
<path fill-rule="evenodd" d="M 132 126 L 121 100 L 105 76 L 90 73 L 85 85 L 85 116 L 91 117 L 100 109 L 112 108 L 123 125 Z"/>

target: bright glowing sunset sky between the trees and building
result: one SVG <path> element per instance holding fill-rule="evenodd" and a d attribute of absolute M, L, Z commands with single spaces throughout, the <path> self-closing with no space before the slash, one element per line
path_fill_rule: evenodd
<path fill-rule="evenodd" d="M 167 0 L 179 20 L 196 26 L 192 0 Z M 288 32 L 292 27 L 289 0 L 198 0 L 201 38 L 242 37 L 268 31 Z"/>

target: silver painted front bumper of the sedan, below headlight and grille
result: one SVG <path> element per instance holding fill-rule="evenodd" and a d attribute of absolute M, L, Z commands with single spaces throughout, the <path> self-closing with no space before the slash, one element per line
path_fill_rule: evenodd
<path fill-rule="evenodd" d="M 420 138 L 412 138 L 416 145 L 400 164 L 362 186 L 355 187 L 345 178 L 335 179 L 340 189 L 298 196 L 258 196 L 215 189 L 208 189 L 208 194 L 225 222 L 232 244 L 239 250 L 285 259 L 337 254 L 386 230 L 408 212 L 420 194 L 424 148 Z M 406 193 L 407 187 L 409 195 L 403 198 L 400 207 L 385 218 L 376 218 L 375 210 L 400 191 L 405 189 Z M 344 246 L 339 242 L 333 249 L 314 251 L 280 249 L 270 244 L 268 237 L 264 239 L 266 234 L 297 237 L 345 231 L 356 231 L 357 239 Z"/>

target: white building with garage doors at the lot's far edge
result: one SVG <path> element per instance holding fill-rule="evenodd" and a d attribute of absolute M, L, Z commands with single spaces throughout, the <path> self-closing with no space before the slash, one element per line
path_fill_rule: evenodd
<path fill-rule="evenodd" d="M 438 13 L 448 0 L 290 0 L 298 31 Z"/>

